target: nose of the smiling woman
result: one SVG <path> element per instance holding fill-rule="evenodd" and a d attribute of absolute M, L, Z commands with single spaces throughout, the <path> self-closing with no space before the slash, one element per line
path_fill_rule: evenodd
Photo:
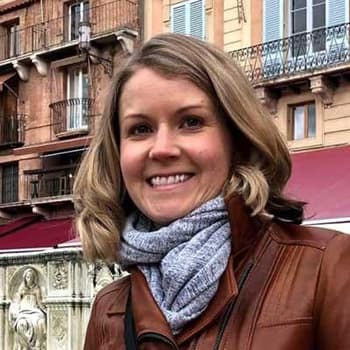
<path fill-rule="evenodd" d="M 180 148 L 176 135 L 166 127 L 159 128 L 154 134 L 153 143 L 149 151 L 149 158 L 153 160 L 166 160 L 180 155 Z"/>

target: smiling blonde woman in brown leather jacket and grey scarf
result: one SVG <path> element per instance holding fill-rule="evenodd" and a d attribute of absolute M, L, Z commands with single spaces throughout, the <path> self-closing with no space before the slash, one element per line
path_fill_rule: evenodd
<path fill-rule="evenodd" d="M 75 183 L 96 297 L 85 349 L 350 348 L 350 240 L 301 227 L 288 150 L 236 65 L 175 34 L 115 76 Z"/>

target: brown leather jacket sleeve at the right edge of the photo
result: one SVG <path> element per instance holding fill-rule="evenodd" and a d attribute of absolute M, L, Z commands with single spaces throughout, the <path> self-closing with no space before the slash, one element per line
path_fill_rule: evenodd
<path fill-rule="evenodd" d="M 350 235 L 337 234 L 328 242 L 314 307 L 315 348 L 350 349 Z"/>

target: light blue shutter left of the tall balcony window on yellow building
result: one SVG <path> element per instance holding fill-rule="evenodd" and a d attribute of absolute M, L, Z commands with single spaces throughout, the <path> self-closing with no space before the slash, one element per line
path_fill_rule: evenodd
<path fill-rule="evenodd" d="M 278 40 L 283 37 L 283 0 L 264 0 L 263 40 Z"/>

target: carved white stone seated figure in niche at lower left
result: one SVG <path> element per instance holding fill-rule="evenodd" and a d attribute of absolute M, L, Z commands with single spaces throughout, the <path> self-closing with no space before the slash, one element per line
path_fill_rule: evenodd
<path fill-rule="evenodd" d="M 9 324 L 14 331 L 14 350 L 46 348 L 46 312 L 37 271 L 24 270 L 9 309 Z"/>

